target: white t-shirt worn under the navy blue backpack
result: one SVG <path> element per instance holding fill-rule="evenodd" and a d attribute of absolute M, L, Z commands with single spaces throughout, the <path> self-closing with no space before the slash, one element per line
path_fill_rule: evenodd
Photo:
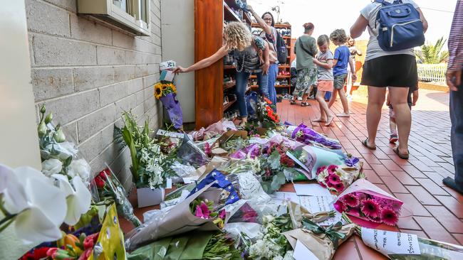
<path fill-rule="evenodd" d="M 394 0 L 385 0 L 385 1 L 388 1 L 390 3 L 394 2 Z M 410 3 L 415 8 L 419 7 L 412 0 L 402 0 L 402 3 L 404 4 Z M 412 48 L 407 49 L 407 50 L 397 50 L 397 51 L 388 51 L 388 52 L 380 48 L 380 44 L 378 43 L 378 31 L 379 31 L 380 26 L 379 24 L 376 24 L 376 16 L 381 6 L 383 5 L 373 2 L 373 3 L 368 4 L 368 6 L 365 6 L 365 8 L 362 9 L 362 11 L 360 11 L 360 14 L 368 20 L 368 33 L 370 33 L 370 40 L 368 41 L 367 55 L 365 57 L 365 61 L 373 60 L 375 58 L 387 56 L 387 55 L 409 54 L 409 55 L 415 56 L 415 53 L 413 53 Z"/>

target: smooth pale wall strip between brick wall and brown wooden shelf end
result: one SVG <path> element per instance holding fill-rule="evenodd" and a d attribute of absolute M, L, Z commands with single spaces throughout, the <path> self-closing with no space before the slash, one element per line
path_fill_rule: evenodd
<path fill-rule="evenodd" d="M 222 1 L 222 0 L 221 0 Z M 162 60 L 194 63 L 194 0 L 161 1 Z M 175 76 L 183 121 L 194 122 L 194 72 Z"/>

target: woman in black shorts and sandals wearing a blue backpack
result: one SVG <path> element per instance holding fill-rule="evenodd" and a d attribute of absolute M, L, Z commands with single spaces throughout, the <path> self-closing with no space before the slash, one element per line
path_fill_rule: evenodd
<path fill-rule="evenodd" d="M 425 43 L 427 21 L 415 1 L 375 0 L 360 11 L 350 28 L 350 36 L 358 38 L 367 27 L 370 40 L 361 84 L 368 86 L 368 138 L 363 146 L 376 149 L 375 139 L 388 87 L 399 134 L 399 145 L 394 151 L 400 158 L 408 159 L 412 125 L 407 104 L 408 86 L 416 85 L 418 80 L 413 48 Z"/>

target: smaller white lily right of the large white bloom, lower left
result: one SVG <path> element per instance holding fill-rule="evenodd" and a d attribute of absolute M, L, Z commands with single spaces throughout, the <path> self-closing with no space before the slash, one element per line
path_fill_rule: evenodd
<path fill-rule="evenodd" d="M 69 183 L 66 175 L 55 174 L 51 175 L 52 178 L 57 180 L 56 185 L 66 195 L 66 202 L 68 204 L 68 212 L 64 222 L 73 226 L 80 220 L 80 216 L 90 209 L 92 195 L 90 191 L 83 184 L 80 176 L 75 176 Z"/>

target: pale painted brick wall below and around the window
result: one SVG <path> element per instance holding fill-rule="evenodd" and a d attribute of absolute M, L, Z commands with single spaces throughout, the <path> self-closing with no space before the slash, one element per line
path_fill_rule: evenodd
<path fill-rule="evenodd" d="M 130 155 L 113 129 L 128 109 L 150 118 L 153 129 L 160 125 L 152 90 L 162 60 L 160 0 L 151 0 L 150 37 L 78 16 L 76 0 L 26 0 L 26 16 L 36 107 L 46 104 L 94 173 L 108 163 L 127 188 Z"/>

